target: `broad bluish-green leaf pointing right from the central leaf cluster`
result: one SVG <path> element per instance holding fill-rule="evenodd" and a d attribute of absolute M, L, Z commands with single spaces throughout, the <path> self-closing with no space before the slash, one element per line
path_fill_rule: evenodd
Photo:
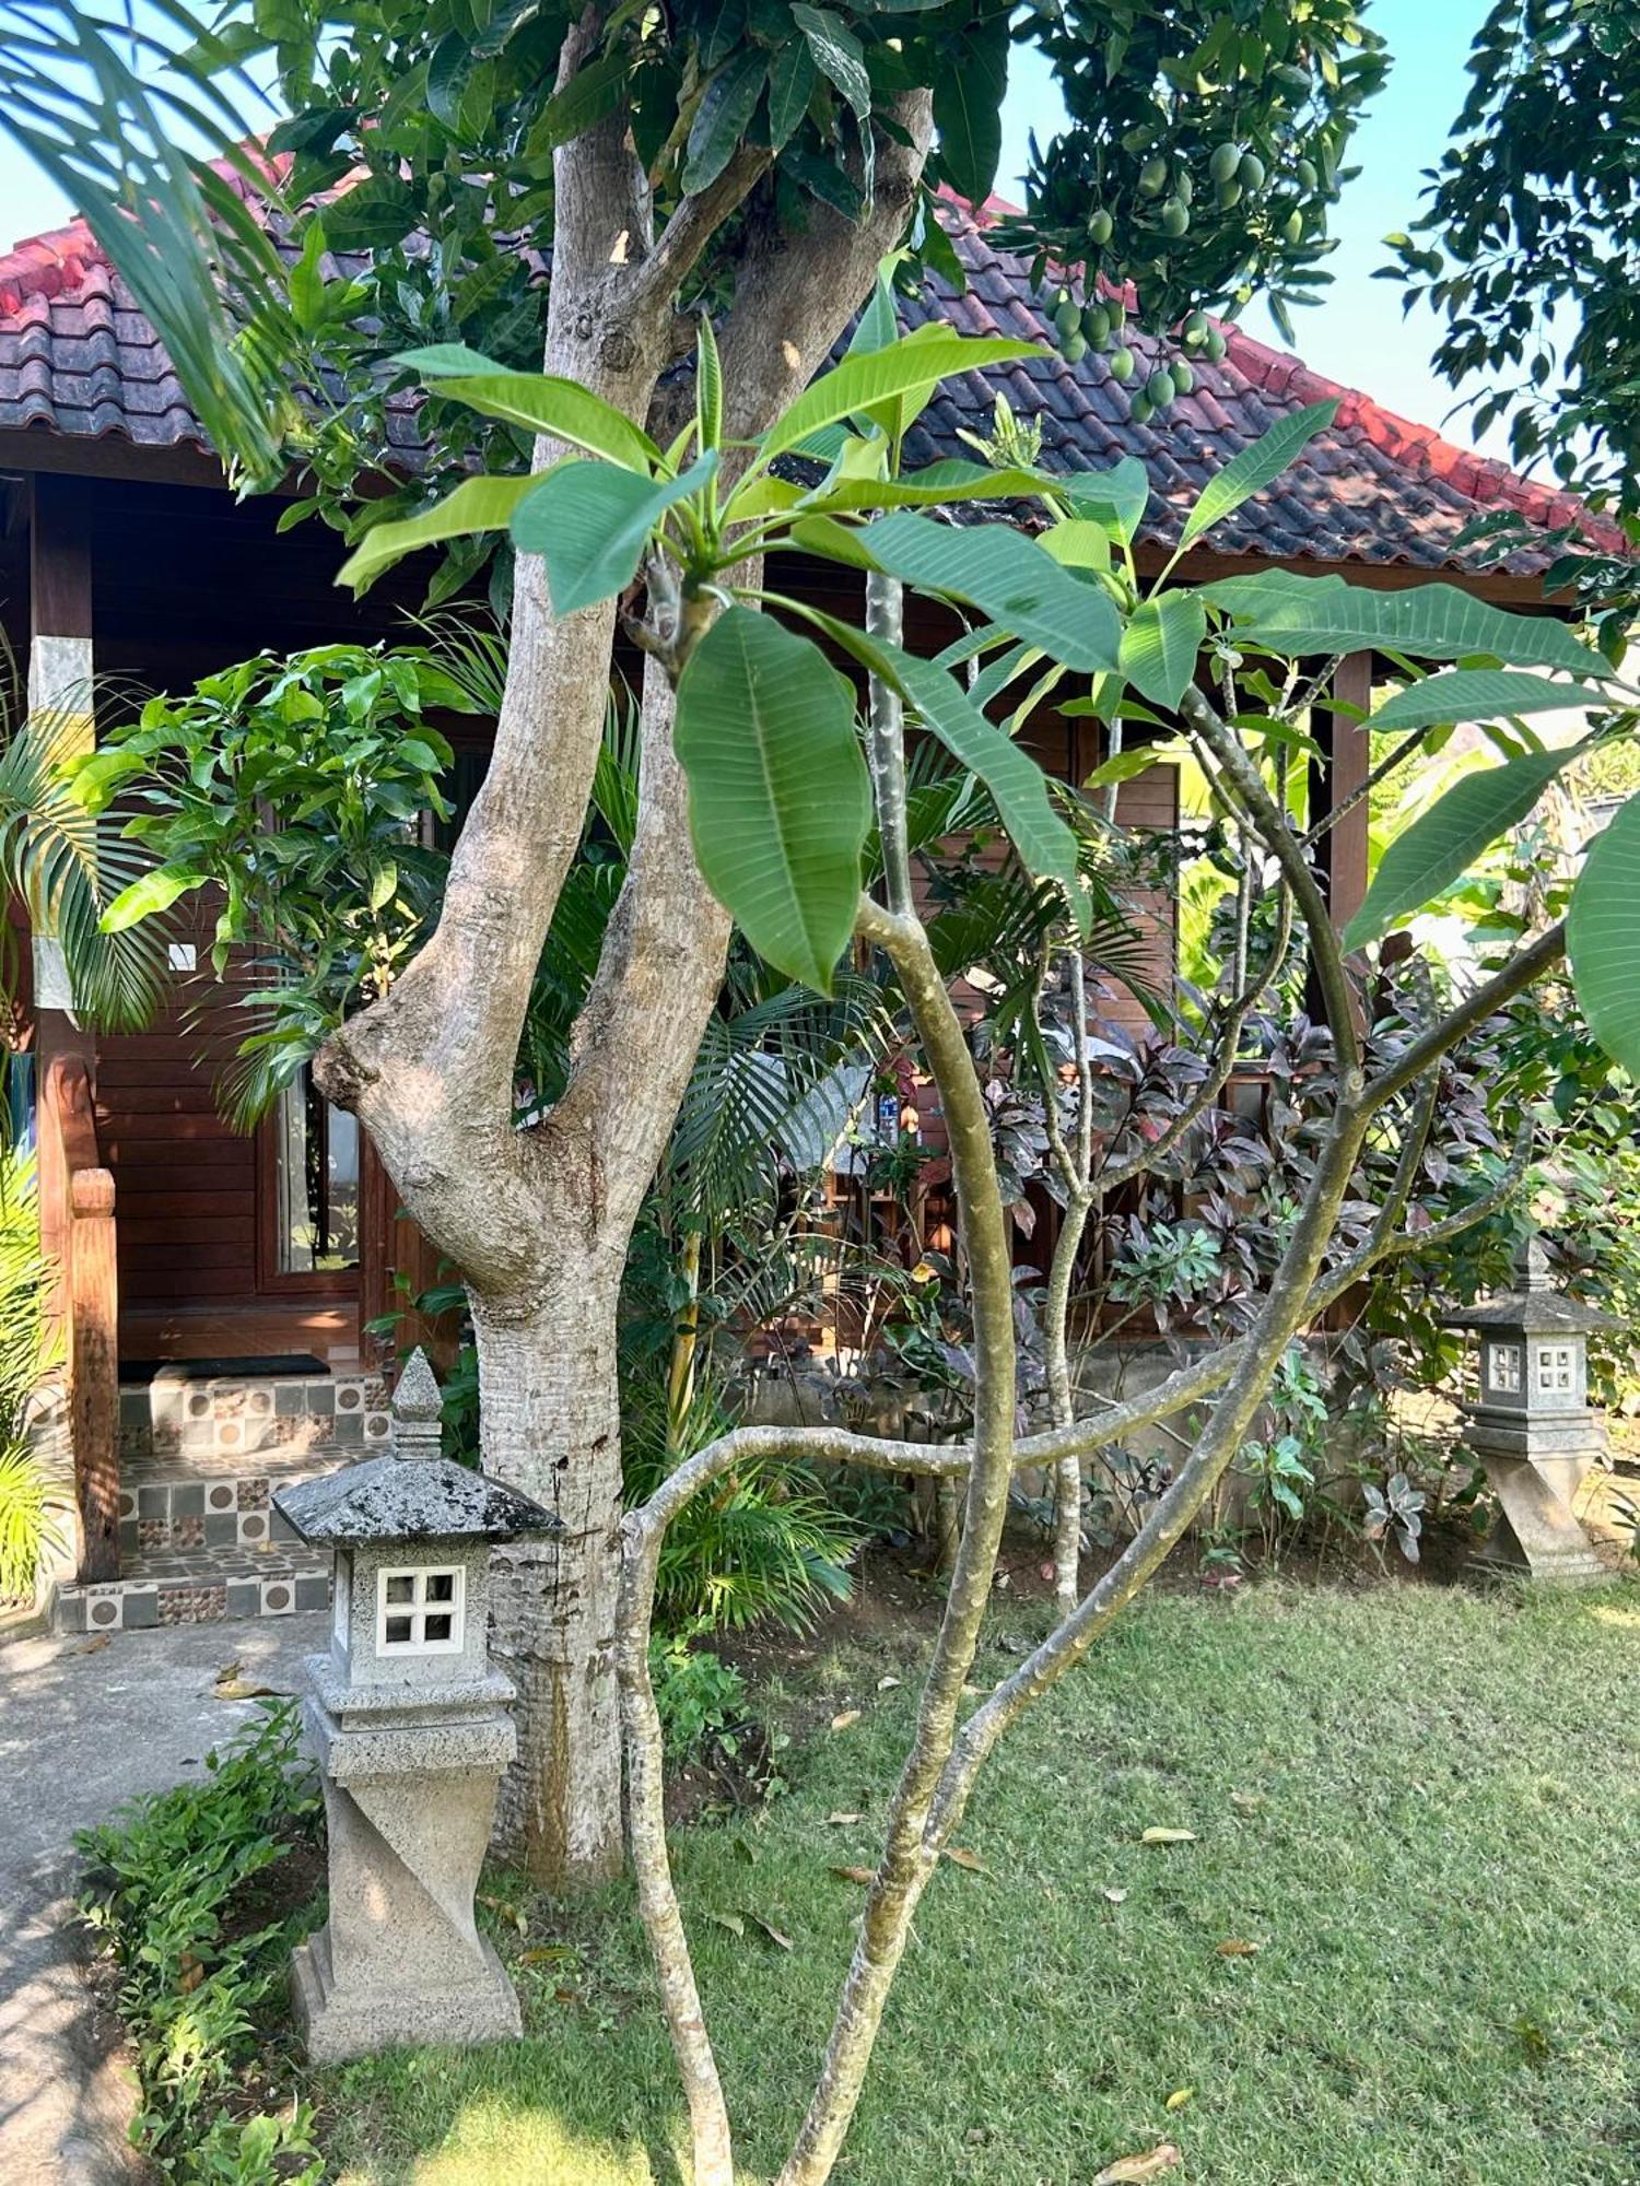
<path fill-rule="evenodd" d="M 1122 623 L 1111 599 L 1012 525 L 956 529 L 901 512 L 870 525 L 866 553 L 890 577 L 967 599 L 1061 667 L 1098 673 L 1117 665 Z"/>

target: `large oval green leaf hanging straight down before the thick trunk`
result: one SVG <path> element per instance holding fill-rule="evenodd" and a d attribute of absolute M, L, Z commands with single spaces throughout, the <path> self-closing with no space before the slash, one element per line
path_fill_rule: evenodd
<path fill-rule="evenodd" d="M 853 689 L 809 638 L 728 608 L 678 680 L 673 741 L 706 885 L 768 964 L 829 995 L 870 828 Z"/>

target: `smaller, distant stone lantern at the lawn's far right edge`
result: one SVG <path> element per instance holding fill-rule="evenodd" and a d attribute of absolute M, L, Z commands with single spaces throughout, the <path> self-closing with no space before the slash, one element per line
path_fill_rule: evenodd
<path fill-rule="evenodd" d="M 1476 1563 L 1533 1578 L 1601 1578 L 1572 1497 L 1605 1454 L 1605 1419 L 1590 1410 L 1590 1333 L 1616 1320 L 1555 1288 L 1537 1237 L 1515 1261 L 1515 1283 L 1445 1316 L 1480 1340 L 1480 1399 L 1465 1403 L 1463 1443 L 1487 1471 L 1498 1524 Z"/>

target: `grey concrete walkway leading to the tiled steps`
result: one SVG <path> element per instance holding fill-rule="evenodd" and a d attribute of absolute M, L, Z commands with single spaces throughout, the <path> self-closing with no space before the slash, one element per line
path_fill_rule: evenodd
<path fill-rule="evenodd" d="M 177 1624 L 0 1644 L 0 2182 L 125 2186 L 131 2081 L 94 2007 L 72 1917 L 74 1830 L 203 1768 L 251 1714 L 216 1672 L 295 1692 L 328 1618 Z"/>

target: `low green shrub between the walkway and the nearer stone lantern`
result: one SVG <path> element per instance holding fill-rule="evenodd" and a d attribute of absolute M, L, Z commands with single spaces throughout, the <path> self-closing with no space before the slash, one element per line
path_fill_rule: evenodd
<path fill-rule="evenodd" d="M 317 1782 L 297 1762 L 297 1712 L 284 1701 L 210 1753 L 203 1782 L 136 1799 L 77 1838 L 81 1913 L 114 1963 L 138 2057 L 131 2138 L 181 2186 L 321 2177 L 300 2105 L 273 2118 L 245 2116 L 243 2101 L 258 2020 L 308 1926 L 304 1915 L 256 1926 L 254 1915 L 269 1911 L 267 1871 L 317 1827 Z"/>

